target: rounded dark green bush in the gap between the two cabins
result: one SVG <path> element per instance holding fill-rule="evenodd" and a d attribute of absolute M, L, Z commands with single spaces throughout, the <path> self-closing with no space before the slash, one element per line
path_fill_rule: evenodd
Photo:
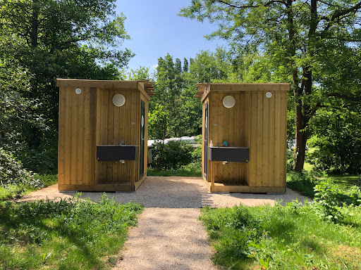
<path fill-rule="evenodd" d="M 154 157 L 154 165 L 158 165 L 161 157 L 162 141 L 154 142 L 154 149 L 157 155 Z M 169 141 L 164 144 L 161 169 L 181 169 L 181 167 L 192 162 L 193 147 L 184 141 Z"/>

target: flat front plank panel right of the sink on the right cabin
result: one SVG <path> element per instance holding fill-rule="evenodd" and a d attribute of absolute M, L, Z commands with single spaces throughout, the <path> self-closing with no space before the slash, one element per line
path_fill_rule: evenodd
<path fill-rule="evenodd" d="M 249 186 L 286 187 L 287 92 L 251 91 Z"/>

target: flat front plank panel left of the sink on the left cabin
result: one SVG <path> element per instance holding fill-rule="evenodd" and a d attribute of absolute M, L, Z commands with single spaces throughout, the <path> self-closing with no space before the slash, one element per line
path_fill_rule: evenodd
<path fill-rule="evenodd" d="M 94 185 L 96 96 L 90 87 L 59 91 L 59 189 L 62 185 Z"/>

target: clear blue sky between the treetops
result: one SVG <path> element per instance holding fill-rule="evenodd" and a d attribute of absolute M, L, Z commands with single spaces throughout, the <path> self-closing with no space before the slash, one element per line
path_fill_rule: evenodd
<path fill-rule="evenodd" d="M 215 30 L 215 25 L 200 23 L 196 20 L 177 15 L 181 8 L 188 6 L 190 0 L 117 0 L 117 13 L 126 15 L 126 31 L 131 40 L 123 46 L 136 54 L 129 62 L 129 70 L 141 65 L 154 68 L 159 57 L 166 53 L 173 60 L 195 58 L 201 50 L 215 51 L 223 45 L 221 40 L 208 41 L 204 38 Z"/>

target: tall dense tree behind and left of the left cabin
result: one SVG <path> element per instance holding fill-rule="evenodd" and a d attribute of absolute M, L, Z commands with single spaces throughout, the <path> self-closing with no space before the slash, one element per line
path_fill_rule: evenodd
<path fill-rule="evenodd" d="M 29 110 L 43 115 L 50 127 L 44 133 L 35 124 L 26 123 L 24 138 L 33 150 L 51 148 L 54 162 L 59 110 L 56 77 L 121 79 L 119 69 L 133 56 L 128 49 L 120 49 L 129 37 L 124 30 L 125 16 L 114 11 L 115 2 L 0 0 L 0 39 L 16 40 L 4 43 L 1 57 L 16 59 L 32 75 L 31 91 L 20 89 L 20 94 L 42 103 Z"/>

